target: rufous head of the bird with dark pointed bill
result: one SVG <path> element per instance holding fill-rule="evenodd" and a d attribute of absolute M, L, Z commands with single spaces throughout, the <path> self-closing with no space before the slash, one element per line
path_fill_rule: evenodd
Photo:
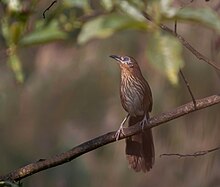
<path fill-rule="evenodd" d="M 110 57 L 115 59 L 122 69 L 129 70 L 138 66 L 136 60 L 130 56 L 110 55 Z"/>

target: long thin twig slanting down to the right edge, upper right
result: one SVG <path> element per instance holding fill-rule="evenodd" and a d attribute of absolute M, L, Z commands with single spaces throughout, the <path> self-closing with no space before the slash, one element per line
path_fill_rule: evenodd
<path fill-rule="evenodd" d="M 152 23 L 155 23 L 154 19 L 147 14 L 146 12 L 143 12 L 143 16 L 151 21 Z M 156 24 L 156 23 L 155 23 Z M 209 60 L 206 56 L 204 56 L 203 54 L 201 54 L 199 51 L 197 51 L 195 48 L 193 48 L 191 46 L 191 44 L 189 42 L 187 42 L 181 35 L 175 33 L 172 29 L 170 29 L 169 27 L 167 27 L 164 24 L 159 24 L 158 25 L 162 30 L 168 32 L 169 34 L 177 37 L 179 39 L 179 41 L 191 52 L 193 53 L 199 60 L 202 60 L 206 63 L 208 63 L 209 65 L 211 65 L 212 67 L 214 67 L 215 69 L 217 69 L 218 71 L 220 71 L 220 67 L 218 65 L 216 65 L 215 62 Z"/>

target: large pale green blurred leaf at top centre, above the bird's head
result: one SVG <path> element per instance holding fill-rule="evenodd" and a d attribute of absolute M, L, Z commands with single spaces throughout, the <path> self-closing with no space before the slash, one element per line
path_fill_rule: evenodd
<path fill-rule="evenodd" d="M 123 29 L 146 30 L 146 28 L 146 22 L 139 22 L 118 14 L 106 15 L 85 23 L 79 34 L 78 43 L 83 44 L 93 38 L 107 38 L 116 31 Z"/>

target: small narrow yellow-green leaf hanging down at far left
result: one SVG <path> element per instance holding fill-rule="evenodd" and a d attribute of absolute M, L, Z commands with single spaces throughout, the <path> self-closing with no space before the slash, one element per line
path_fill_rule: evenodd
<path fill-rule="evenodd" d="M 23 83 L 24 75 L 22 72 L 21 62 L 15 52 L 12 52 L 12 54 L 9 55 L 8 64 L 13 70 L 16 80 L 20 83 Z"/>

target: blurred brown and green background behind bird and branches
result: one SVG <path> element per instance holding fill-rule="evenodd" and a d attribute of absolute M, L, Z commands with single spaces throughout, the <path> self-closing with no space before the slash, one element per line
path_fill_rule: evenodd
<path fill-rule="evenodd" d="M 1 175 L 119 127 L 126 112 L 119 98 L 119 67 L 111 54 L 138 61 L 153 93 L 151 116 L 191 101 L 178 74 L 181 67 L 195 98 L 220 93 L 219 72 L 140 16 L 147 10 L 170 28 L 178 18 L 178 33 L 220 66 L 219 1 L 162 2 L 57 1 L 43 19 L 52 1 L 1 1 Z M 128 168 L 125 143 L 119 141 L 21 182 L 57 187 L 220 186 L 219 151 L 196 158 L 160 157 L 219 146 L 219 114 L 215 105 L 154 128 L 156 161 L 146 174 Z"/>

